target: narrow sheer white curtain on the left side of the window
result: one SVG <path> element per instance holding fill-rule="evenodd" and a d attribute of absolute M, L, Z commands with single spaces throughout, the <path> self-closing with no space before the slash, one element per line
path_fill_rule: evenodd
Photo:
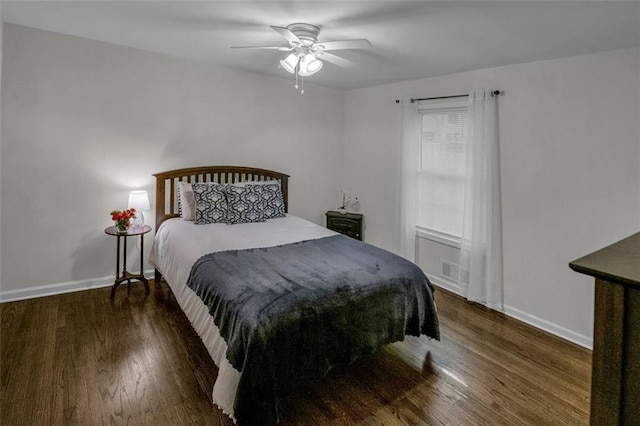
<path fill-rule="evenodd" d="M 398 254 L 415 262 L 420 161 L 418 103 L 402 99 L 402 142 L 398 153 Z"/>

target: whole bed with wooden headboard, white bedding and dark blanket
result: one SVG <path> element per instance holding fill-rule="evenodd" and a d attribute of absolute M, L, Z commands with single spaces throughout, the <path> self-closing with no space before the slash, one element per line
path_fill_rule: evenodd
<path fill-rule="evenodd" d="M 288 175 L 210 166 L 154 176 L 156 282 L 165 279 L 218 366 L 212 399 L 234 422 L 275 424 L 283 397 L 333 367 L 405 335 L 439 338 L 433 286 L 422 271 L 288 214 Z M 195 219 L 183 210 L 185 185 L 195 194 Z M 238 208 L 234 191 L 258 191 L 255 205 L 266 208 L 267 189 L 260 191 L 274 185 L 274 217 L 228 224 Z M 211 200 L 225 199 L 227 222 L 198 224 L 215 216 Z"/>

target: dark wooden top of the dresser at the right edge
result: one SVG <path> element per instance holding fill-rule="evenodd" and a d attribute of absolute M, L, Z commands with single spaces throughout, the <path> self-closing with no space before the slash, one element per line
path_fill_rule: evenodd
<path fill-rule="evenodd" d="M 640 288 L 640 232 L 569 263 L 576 272 Z"/>

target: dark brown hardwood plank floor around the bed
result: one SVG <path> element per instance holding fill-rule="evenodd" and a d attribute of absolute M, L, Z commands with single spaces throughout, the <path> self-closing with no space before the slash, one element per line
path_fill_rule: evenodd
<path fill-rule="evenodd" d="M 232 425 L 166 285 L 0 305 L 0 423 Z M 285 425 L 588 423 L 591 353 L 437 292 L 441 341 L 407 338 L 281 404 Z M 208 373 L 205 373 L 207 372 Z"/>

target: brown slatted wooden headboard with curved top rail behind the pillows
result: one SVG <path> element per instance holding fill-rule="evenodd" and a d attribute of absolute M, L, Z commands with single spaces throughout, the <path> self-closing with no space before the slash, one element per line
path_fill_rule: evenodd
<path fill-rule="evenodd" d="M 177 182 L 234 183 L 275 179 L 280 181 L 284 209 L 289 211 L 287 191 L 289 175 L 284 173 L 242 166 L 205 166 L 169 170 L 168 172 L 154 173 L 153 176 L 156 178 L 156 230 L 165 220 L 180 216 L 176 199 Z"/>

